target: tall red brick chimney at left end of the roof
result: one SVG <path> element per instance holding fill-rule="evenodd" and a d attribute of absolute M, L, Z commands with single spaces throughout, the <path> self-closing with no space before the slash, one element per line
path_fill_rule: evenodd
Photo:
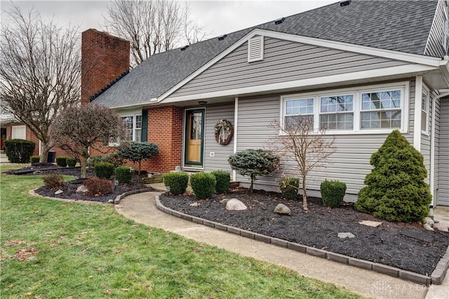
<path fill-rule="evenodd" d="M 81 104 L 129 70 L 129 41 L 87 29 L 81 34 Z"/>

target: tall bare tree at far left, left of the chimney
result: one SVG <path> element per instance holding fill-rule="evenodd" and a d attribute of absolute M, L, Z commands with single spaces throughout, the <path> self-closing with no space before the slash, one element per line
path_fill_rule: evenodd
<path fill-rule="evenodd" d="M 55 115 L 79 103 L 79 34 L 76 27 L 61 29 L 17 6 L 7 15 L 0 41 L 2 106 L 41 140 L 40 161 L 47 161 L 53 147 L 48 128 Z"/>

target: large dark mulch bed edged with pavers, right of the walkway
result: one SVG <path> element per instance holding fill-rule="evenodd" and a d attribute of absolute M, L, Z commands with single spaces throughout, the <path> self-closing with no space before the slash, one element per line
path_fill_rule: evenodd
<path fill-rule="evenodd" d="M 239 199 L 248 210 L 227 211 L 225 204 L 220 204 L 225 198 Z M 328 208 L 320 199 L 309 199 L 308 212 L 302 209 L 300 200 L 282 199 L 275 192 L 248 194 L 241 188 L 203 201 L 189 194 L 162 194 L 160 200 L 168 208 L 196 217 L 424 275 L 434 271 L 449 245 L 448 232 L 429 232 L 419 224 L 378 220 L 354 210 L 352 204 Z M 189 206 L 194 202 L 200 206 Z M 273 213 L 280 203 L 290 208 L 291 216 Z M 380 221 L 382 225 L 369 227 L 358 223 L 362 220 Z M 351 232 L 356 237 L 340 239 L 338 232 Z"/>

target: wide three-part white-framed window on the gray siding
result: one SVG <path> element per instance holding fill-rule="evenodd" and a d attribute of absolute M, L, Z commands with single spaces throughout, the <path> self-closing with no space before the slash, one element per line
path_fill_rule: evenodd
<path fill-rule="evenodd" d="M 281 97 L 283 128 L 298 117 L 311 119 L 314 130 L 329 133 L 384 133 L 407 130 L 408 83 Z M 427 101 L 423 115 L 428 114 Z M 423 116 L 423 119 L 427 118 Z M 424 130 L 424 128 L 423 128 Z"/>

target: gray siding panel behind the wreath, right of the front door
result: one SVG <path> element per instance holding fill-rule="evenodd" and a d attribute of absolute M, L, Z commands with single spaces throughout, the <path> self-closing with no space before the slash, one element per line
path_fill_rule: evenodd
<path fill-rule="evenodd" d="M 234 153 L 234 140 L 231 140 L 227 145 L 219 145 L 215 142 L 215 124 L 220 119 L 227 119 L 233 126 L 235 125 L 234 102 L 206 108 L 204 170 L 215 171 L 221 169 L 231 172 L 232 169 L 227 163 L 227 159 Z M 215 157 L 210 157 L 211 152 L 215 154 Z"/>

